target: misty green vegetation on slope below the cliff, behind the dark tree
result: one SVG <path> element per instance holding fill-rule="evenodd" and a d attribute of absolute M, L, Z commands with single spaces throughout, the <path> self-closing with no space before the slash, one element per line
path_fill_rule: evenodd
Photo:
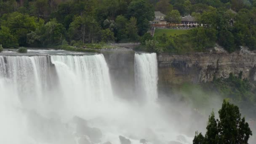
<path fill-rule="evenodd" d="M 212 82 L 184 83 L 178 93 L 203 115 L 208 113 L 205 107 L 209 107 L 209 104 L 212 104 L 210 107 L 214 107 L 214 103 L 219 103 L 219 100 L 229 99 L 240 107 L 244 115 L 256 119 L 255 83 L 242 79 L 241 76 L 242 73 L 238 76 L 231 73 L 228 78 L 214 78 Z"/>

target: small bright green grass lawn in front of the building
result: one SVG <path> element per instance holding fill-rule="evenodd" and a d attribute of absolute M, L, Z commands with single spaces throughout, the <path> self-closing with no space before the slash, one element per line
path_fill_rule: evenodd
<path fill-rule="evenodd" d="M 161 36 L 163 34 L 166 34 L 167 36 L 181 35 L 186 34 L 187 31 L 187 29 L 155 29 L 154 37 Z"/>

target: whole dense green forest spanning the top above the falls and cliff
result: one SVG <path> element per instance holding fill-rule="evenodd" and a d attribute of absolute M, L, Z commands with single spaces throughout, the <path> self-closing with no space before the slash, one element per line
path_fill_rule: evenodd
<path fill-rule="evenodd" d="M 154 11 L 166 19 L 190 14 L 203 27 L 152 38 Z M 108 42 L 141 42 L 141 49 L 155 52 L 205 51 L 215 43 L 229 52 L 240 45 L 253 50 L 256 0 L 0 0 L 3 48 Z"/>

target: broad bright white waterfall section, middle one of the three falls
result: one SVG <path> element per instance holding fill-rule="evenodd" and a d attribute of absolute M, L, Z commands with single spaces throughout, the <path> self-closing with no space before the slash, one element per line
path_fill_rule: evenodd
<path fill-rule="evenodd" d="M 89 104 L 113 100 L 109 69 L 102 54 L 51 58 L 59 77 L 61 93 L 71 107 L 84 109 Z"/>

